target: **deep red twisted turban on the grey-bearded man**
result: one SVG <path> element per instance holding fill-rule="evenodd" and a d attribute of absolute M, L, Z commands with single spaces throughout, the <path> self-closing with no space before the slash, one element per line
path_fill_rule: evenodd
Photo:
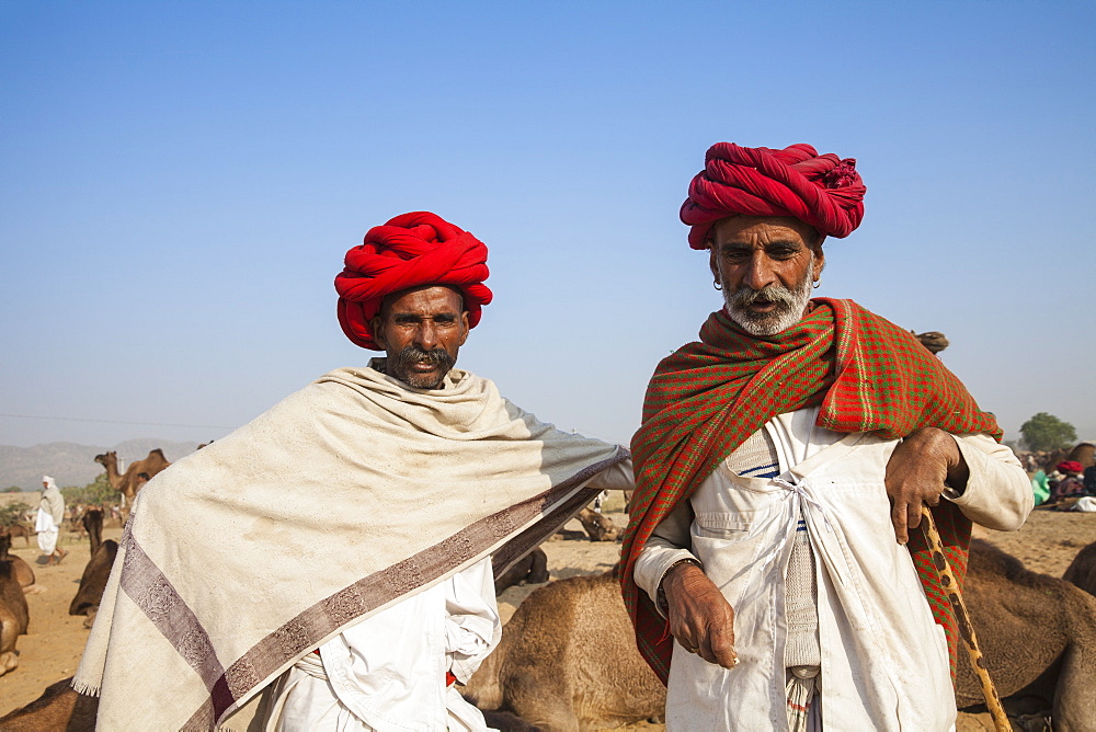
<path fill-rule="evenodd" d="M 717 142 L 689 183 L 682 221 L 693 227 L 693 249 L 707 249 L 712 222 L 735 214 L 794 216 L 843 239 L 864 218 L 866 190 L 853 158 L 820 156 L 802 144 L 770 150 Z"/>

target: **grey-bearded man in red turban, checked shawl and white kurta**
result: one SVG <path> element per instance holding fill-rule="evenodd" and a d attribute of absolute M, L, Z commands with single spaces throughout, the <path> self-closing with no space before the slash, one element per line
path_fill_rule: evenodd
<path fill-rule="evenodd" d="M 810 299 L 824 238 L 864 214 L 855 162 L 718 144 L 682 207 L 724 307 L 651 379 L 621 573 L 669 730 L 951 728 L 957 628 L 922 506 L 960 581 L 971 521 L 1031 510 L 955 375 Z"/>

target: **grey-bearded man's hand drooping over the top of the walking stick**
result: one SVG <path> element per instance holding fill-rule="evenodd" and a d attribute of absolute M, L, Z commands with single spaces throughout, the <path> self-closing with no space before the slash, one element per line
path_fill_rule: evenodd
<path fill-rule="evenodd" d="M 909 541 L 910 529 L 921 525 L 922 505 L 938 504 L 948 485 L 962 491 L 969 474 L 950 434 L 936 427 L 910 433 L 891 454 L 884 478 L 898 542 Z"/>

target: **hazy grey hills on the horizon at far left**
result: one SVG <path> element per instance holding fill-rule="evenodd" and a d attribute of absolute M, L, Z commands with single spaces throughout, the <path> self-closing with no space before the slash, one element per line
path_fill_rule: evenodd
<path fill-rule="evenodd" d="M 149 450 L 159 447 L 174 462 L 197 449 L 198 443 L 176 443 L 170 439 L 141 437 L 127 439 L 113 447 L 77 445 L 76 443 L 48 443 L 34 447 L 0 445 L 0 489 L 18 485 L 24 491 L 42 488 L 42 476 L 53 476 L 60 487 L 87 485 L 103 472 L 95 456 L 114 450 L 129 465 L 141 460 Z"/>

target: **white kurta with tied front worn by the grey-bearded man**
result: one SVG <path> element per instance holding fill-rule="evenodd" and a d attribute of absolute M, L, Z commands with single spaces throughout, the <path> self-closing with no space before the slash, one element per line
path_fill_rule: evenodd
<path fill-rule="evenodd" d="M 788 559 L 806 518 L 818 579 L 821 708 L 826 730 L 947 730 L 955 696 L 947 642 L 909 550 L 894 540 L 883 476 L 899 441 L 814 425 L 818 410 L 774 418 L 777 479 L 726 462 L 660 524 L 636 564 L 652 599 L 669 567 L 704 564 L 734 608 L 739 665 L 724 670 L 674 644 L 667 730 L 786 730 Z M 1007 447 L 958 436 L 970 479 L 954 500 L 973 521 L 1012 529 L 1031 491 Z"/>

